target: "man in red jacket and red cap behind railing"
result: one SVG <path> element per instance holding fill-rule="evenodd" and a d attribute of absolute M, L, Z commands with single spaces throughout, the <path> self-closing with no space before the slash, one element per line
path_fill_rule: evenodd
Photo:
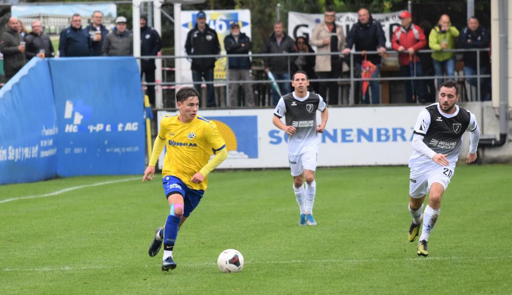
<path fill-rule="evenodd" d="M 426 39 L 423 30 L 412 23 L 412 15 L 409 11 L 402 11 L 399 16 L 402 25 L 395 30 L 391 39 L 392 47 L 398 51 L 398 63 L 402 77 L 423 76 L 421 62 L 416 52 L 425 48 Z M 406 86 L 406 101 L 416 102 L 413 99 L 413 85 L 417 85 L 417 98 L 421 102 L 425 100 L 425 83 L 423 80 L 404 80 Z M 416 97 L 414 97 L 416 98 Z"/>

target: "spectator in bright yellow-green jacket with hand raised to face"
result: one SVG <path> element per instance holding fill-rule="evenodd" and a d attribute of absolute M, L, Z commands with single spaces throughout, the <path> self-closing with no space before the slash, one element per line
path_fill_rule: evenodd
<path fill-rule="evenodd" d="M 455 49 L 455 42 L 459 36 L 459 30 L 452 26 L 450 16 L 447 14 L 441 15 L 438 25 L 430 31 L 429 46 L 434 52 L 432 53 L 432 60 L 434 62 L 434 71 L 436 76 L 444 76 L 446 69 L 446 76 L 454 76 L 455 74 L 455 56 L 453 52 L 446 52 L 447 49 Z M 453 79 L 453 77 L 451 78 Z M 437 78 L 437 89 L 439 89 L 443 78 Z"/>

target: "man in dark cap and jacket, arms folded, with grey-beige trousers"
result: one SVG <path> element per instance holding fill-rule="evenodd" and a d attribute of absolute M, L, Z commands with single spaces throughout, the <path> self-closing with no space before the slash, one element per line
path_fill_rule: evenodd
<path fill-rule="evenodd" d="M 248 54 L 251 50 L 251 41 L 246 34 L 240 33 L 240 25 L 233 22 L 230 27 L 231 34 L 224 38 L 224 48 L 227 54 Z M 229 57 L 229 81 L 250 81 L 251 61 L 249 57 Z M 238 106 L 238 84 L 229 85 L 229 106 Z M 252 84 L 243 83 L 245 106 L 253 107 Z"/>

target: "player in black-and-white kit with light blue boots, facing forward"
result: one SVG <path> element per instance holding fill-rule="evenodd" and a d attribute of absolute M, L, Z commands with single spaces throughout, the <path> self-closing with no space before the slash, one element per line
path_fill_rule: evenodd
<path fill-rule="evenodd" d="M 316 225 L 313 218 L 313 203 L 316 193 L 316 159 L 320 144 L 318 133 L 324 132 L 329 113 L 324 99 L 308 92 L 309 80 L 306 72 L 295 72 L 291 85 L 294 92 L 279 100 L 272 123 L 289 135 L 288 162 L 293 176 L 293 191 L 301 210 L 298 224 Z M 316 125 L 316 110 L 321 111 L 322 123 L 319 125 Z M 283 117 L 286 124 L 281 121 Z"/>

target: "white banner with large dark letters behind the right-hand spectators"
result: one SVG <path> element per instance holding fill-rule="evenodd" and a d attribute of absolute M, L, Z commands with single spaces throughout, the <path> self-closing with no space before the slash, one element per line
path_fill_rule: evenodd
<path fill-rule="evenodd" d="M 391 37 L 393 36 L 393 32 L 396 30 L 396 27 L 400 26 L 400 19 L 398 18 L 400 12 L 401 11 L 372 14 L 373 19 L 378 20 L 380 25 L 382 25 L 382 30 L 384 30 L 384 34 L 386 36 L 386 48 L 391 48 Z M 310 14 L 290 11 L 288 12 L 287 33 L 294 40 L 298 36 L 305 36 L 309 39 L 315 25 L 322 21 L 324 21 L 323 13 Z M 356 12 L 336 13 L 336 24 L 343 27 L 345 37 L 347 37 L 347 33 L 356 22 Z"/>

